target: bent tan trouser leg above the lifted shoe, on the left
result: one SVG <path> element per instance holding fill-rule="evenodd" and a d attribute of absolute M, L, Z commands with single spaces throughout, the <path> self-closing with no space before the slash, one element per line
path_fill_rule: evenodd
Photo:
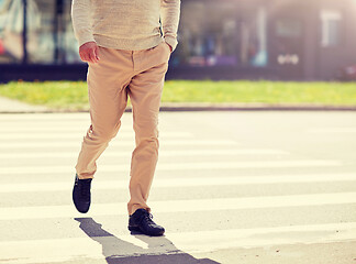
<path fill-rule="evenodd" d="M 125 87 L 132 77 L 132 58 L 127 51 L 99 47 L 100 62 L 89 64 L 88 94 L 91 125 L 84 138 L 76 170 L 78 177 L 92 178 L 96 161 L 116 135 L 126 108 Z"/>

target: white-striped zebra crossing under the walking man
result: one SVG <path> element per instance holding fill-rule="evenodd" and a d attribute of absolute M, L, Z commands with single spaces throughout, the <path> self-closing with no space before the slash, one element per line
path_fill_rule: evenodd
<path fill-rule="evenodd" d="M 187 120 L 168 113 L 160 120 L 149 199 L 166 235 L 126 230 L 130 114 L 98 162 L 92 206 L 80 215 L 71 187 L 88 122 L 87 113 L 0 116 L 0 263 L 120 263 L 140 255 L 356 241 L 356 173 L 343 169 L 343 160 L 201 136 L 204 128 L 185 127 Z"/>

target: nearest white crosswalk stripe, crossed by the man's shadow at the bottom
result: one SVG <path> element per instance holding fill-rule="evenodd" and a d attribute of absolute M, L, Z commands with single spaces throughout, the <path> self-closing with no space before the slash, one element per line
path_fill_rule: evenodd
<path fill-rule="evenodd" d="M 335 230 L 338 232 L 335 232 Z M 300 233 L 303 235 L 300 237 Z M 9 263 L 45 263 L 53 262 L 53 260 L 57 262 L 73 261 L 82 256 L 103 260 L 101 244 L 116 245 L 115 253 L 119 257 L 125 257 L 137 254 L 169 254 L 176 252 L 177 249 L 183 252 L 209 252 L 211 250 L 238 246 L 254 248 L 288 243 L 340 242 L 353 240 L 355 235 L 356 223 L 329 223 L 169 233 L 164 239 L 151 238 L 154 241 L 151 245 L 155 244 L 155 246 L 149 248 L 144 241 L 127 233 L 98 238 L 97 240 L 100 243 L 86 238 L 71 238 L 37 240 L 35 243 L 31 240 L 0 242 L 0 248 L 4 252 L 3 258 L 10 260 Z M 272 237 L 279 239 L 271 240 Z M 170 241 L 174 241 L 174 245 Z M 122 249 L 120 245 L 123 242 L 134 245 L 135 250 Z M 43 250 L 41 255 L 37 254 L 38 248 Z M 25 250 L 19 252 L 19 249 Z M 56 250 L 54 251 L 54 249 Z M 63 252 L 66 252 L 66 254 L 62 254 Z M 16 261 L 11 262 L 11 260 Z"/>

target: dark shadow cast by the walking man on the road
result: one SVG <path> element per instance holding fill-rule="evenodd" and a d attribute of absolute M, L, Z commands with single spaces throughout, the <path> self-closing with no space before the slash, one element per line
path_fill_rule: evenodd
<path fill-rule="evenodd" d="M 75 218 L 79 228 L 92 240 L 102 245 L 102 254 L 108 264 L 143 263 L 143 264 L 219 264 L 209 258 L 194 258 L 178 250 L 167 238 L 134 235 L 148 249 L 121 240 L 101 228 L 92 218 Z M 132 233 L 134 234 L 134 233 Z"/>

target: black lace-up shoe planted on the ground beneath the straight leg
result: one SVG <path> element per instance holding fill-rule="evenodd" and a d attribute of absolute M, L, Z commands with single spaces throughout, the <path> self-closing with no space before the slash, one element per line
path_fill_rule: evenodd
<path fill-rule="evenodd" d="M 147 235 L 163 235 L 165 229 L 152 220 L 153 216 L 145 209 L 137 209 L 129 219 L 129 230 L 137 231 Z"/>

